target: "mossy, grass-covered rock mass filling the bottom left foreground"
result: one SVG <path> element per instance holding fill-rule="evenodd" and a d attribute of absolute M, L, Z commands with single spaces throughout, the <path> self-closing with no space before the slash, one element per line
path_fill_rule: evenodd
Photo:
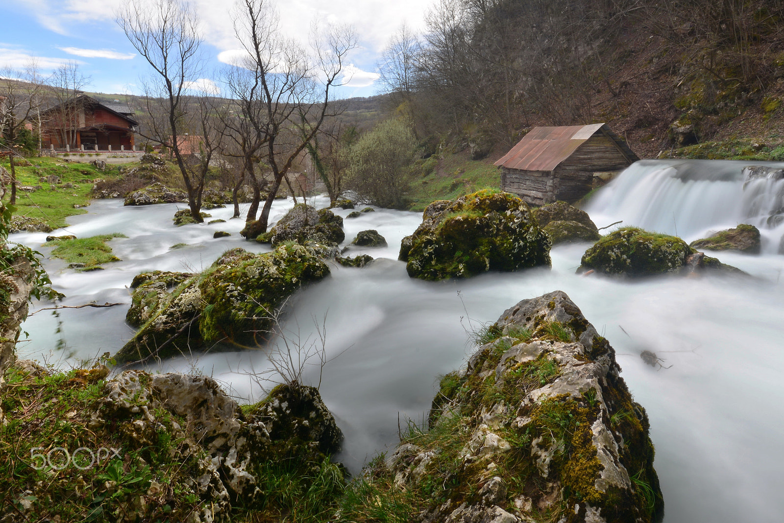
<path fill-rule="evenodd" d="M 11 371 L 19 386 L 3 404 L 17 450 L 39 463 L 45 441 L 30 434 L 42 422 L 67 427 L 57 444 L 71 463 L 47 481 L 36 471 L 6 478 L 5 493 L 21 503 L 0 503 L 2 521 L 46 520 L 53 507 L 63 521 L 229 521 L 248 510 L 277 521 L 327 510 L 343 488 L 343 469 L 329 459 L 343 434 L 314 387 L 287 383 L 241 408 L 206 376 L 125 371 L 107 380 L 103 365 L 49 375 L 31 362 Z M 49 455 L 63 463 L 63 452 Z M 290 494 L 310 488 L 321 496 Z"/>

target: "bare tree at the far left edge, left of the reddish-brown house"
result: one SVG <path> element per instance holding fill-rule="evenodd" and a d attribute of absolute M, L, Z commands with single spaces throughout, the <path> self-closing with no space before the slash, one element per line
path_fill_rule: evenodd
<path fill-rule="evenodd" d="M 36 122 L 40 115 L 41 91 L 41 79 L 34 62 L 24 71 L 0 70 L 0 145 L 9 149 L 11 205 L 16 203 L 14 156 L 19 155 L 19 141 L 27 131 L 27 124 Z"/>

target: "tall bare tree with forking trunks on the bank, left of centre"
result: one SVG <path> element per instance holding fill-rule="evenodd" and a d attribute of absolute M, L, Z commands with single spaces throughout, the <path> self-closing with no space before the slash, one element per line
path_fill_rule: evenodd
<path fill-rule="evenodd" d="M 249 151 L 267 166 L 270 178 L 267 199 L 252 228 L 255 235 L 267 231 L 281 183 L 288 181 L 289 170 L 331 114 L 332 86 L 339 84 L 343 60 L 356 43 L 347 27 L 329 27 L 323 34 L 314 29 L 309 53 L 281 35 L 277 13 L 267 0 L 240 0 L 235 15 L 235 32 L 246 57 L 227 82 L 241 118 L 252 128 Z M 260 182 L 255 172 L 249 174 L 254 198 L 247 219 L 254 221 Z"/>

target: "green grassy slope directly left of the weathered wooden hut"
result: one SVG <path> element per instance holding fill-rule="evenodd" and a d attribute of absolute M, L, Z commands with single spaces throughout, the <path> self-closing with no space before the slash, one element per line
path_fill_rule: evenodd
<path fill-rule="evenodd" d="M 446 154 L 443 159 L 419 160 L 408 198 L 411 210 L 422 211 L 437 199 L 456 199 L 482 188 L 499 188 L 501 174 L 488 159 L 472 160 L 467 153 Z"/>

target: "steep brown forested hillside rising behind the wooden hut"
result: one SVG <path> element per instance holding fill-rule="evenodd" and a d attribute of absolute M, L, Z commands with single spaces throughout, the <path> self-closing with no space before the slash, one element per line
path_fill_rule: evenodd
<path fill-rule="evenodd" d="M 431 150 L 475 155 L 536 125 L 611 123 L 641 156 L 779 144 L 781 0 L 441 0 L 381 64 Z"/>

